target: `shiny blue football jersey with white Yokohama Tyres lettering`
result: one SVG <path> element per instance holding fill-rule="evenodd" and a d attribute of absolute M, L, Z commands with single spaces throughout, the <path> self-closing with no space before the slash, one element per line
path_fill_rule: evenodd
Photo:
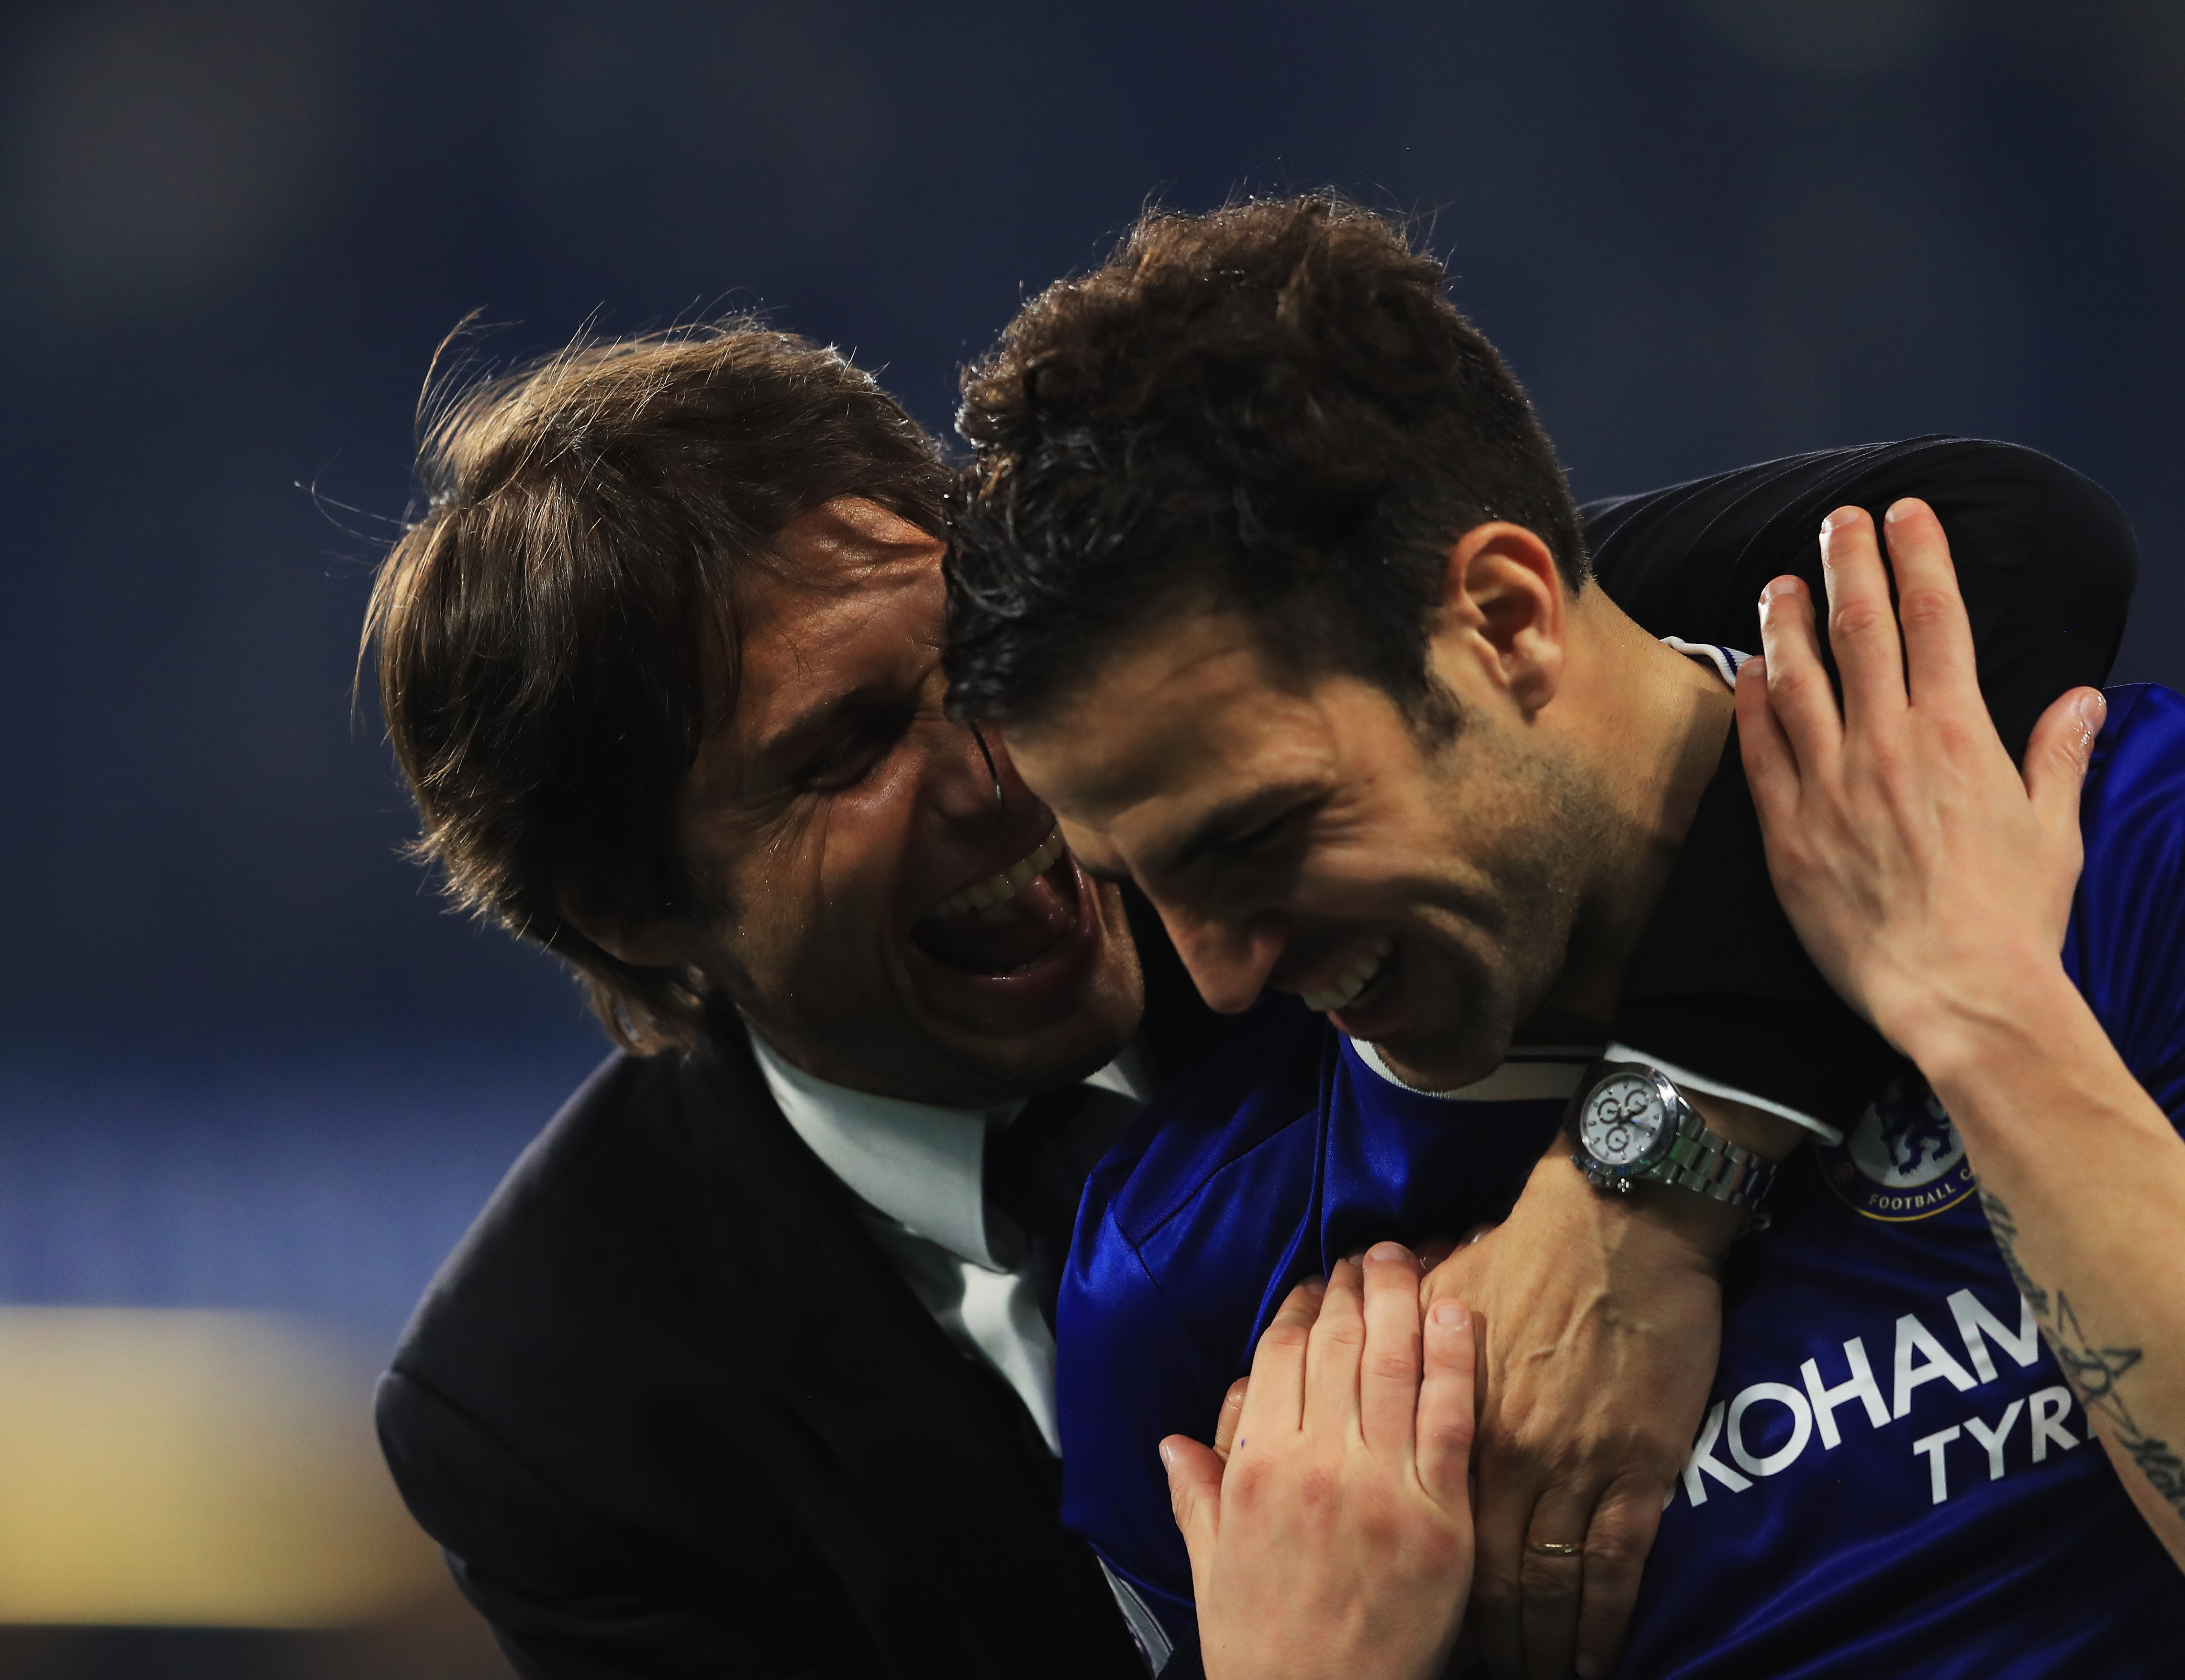
<path fill-rule="evenodd" d="M 2111 690 L 2080 813 L 2065 966 L 2181 1121 L 2185 699 Z M 1160 1438 L 1206 1438 L 1300 1278 L 1499 1212 L 1578 1073 L 1521 1053 L 1422 1095 L 1269 996 L 1095 1171 L 1060 1309 L 1064 1518 L 1171 1632 L 1191 1569 Z M 2185 1671 L 2185 1577 L 2091 1440 L 1925 1086 L 1794 1156 L 1772 1212 L 1724 1278 L 1715 1387 L 1621 1673 Z"/>

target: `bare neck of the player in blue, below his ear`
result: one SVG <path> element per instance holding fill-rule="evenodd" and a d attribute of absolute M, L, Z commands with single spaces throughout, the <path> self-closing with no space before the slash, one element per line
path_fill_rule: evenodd
<path fill-rule="evenodd" d="M 1676 867 L 1700 795 L 1722 762 L 1735 699 L 1709 666 L 1647 636 L 1597 585 L 1571 610 L 1584 640 L 1571 699 L 1586 719 L 1610 843 L 1582 894 L 1569 961 L 1521 1042 L 1593 1042 L 1615 1016 L 1623 970 Z"/>

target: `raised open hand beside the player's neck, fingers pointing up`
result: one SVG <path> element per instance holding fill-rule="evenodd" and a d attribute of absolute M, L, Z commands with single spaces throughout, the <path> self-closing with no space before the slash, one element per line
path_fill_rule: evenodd
<path fill-rule="evenodd" d="M 1829 983 L 1914 1060 L 1929 1022 L 1995 1014 L 1988 994 L 2056 970 L 2080 869 L 2078 791 L 2102 695 L 2041 717 L 2019 771 L 1973 677 L 1973 634 L 1934 511 L 1822 527 L 1829 647 L 1792 577 L 1761 596 L 1763 658 L 1737 682 L 1737 725 L 1768 869 Z M 1901 623 L 1901 634 L 1899 634 Z"/>

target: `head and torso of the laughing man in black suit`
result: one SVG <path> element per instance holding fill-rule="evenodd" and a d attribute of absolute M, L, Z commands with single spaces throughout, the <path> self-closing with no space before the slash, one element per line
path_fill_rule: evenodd
<path fill-rule="evenodd" d="M 1208 1016 L 942 714 L 935 448 L 728 326 L 483 387 L 424 465 L 369 623 L 424 850 L 621 1051 L 382 1383 L 411 1510 L 524 1676 L 1158 1667 L 1058 1521 L 1042 1315 Z M 1741 596 L 1746 524 L 1663 529 Z"/>

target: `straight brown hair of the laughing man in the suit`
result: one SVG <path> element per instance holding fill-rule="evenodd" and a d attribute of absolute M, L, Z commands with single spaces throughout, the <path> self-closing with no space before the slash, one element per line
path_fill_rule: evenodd
<path fill-rule="evenodd" d="M 832 347 L 752 319 L 577 341 L 454 393 L 428 380 L 422 516 L 361 658 L 448 896 L 568 961 L 616 1044 L 688 1046 L 695 970 L 594 924 L 730 913 L 673 841 L 675 789 L 734 706 L 739 577 L 837 496 L 935 535 L 933 439 Z"/>

